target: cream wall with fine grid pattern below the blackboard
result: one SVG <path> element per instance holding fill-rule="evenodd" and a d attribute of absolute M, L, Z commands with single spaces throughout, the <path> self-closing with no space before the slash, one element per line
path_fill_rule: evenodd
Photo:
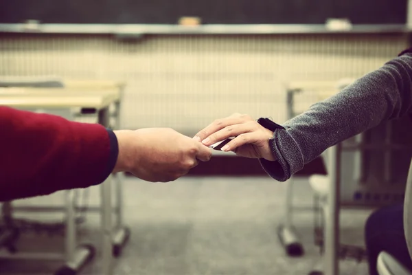
<path fill-rule="evenodd" d="M 195 133 L 233 112 L 286 120 L 282 83 L 359 77 L 407 47 L 400 36 L 1 37 L 0 75 L 126 80 L 122 127 Z"/>

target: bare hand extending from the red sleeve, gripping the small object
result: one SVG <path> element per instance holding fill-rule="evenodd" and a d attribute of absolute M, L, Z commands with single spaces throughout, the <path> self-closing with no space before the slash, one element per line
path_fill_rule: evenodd
<path fill-rule="evenodd" d="M 129 172 L 152 182 L 167 182 L 186 175 L 198 160 L 207 162 L 211 150 L 172 129 L 147 128 L 114 131 L 119 157 L 113 172 Z"/>

